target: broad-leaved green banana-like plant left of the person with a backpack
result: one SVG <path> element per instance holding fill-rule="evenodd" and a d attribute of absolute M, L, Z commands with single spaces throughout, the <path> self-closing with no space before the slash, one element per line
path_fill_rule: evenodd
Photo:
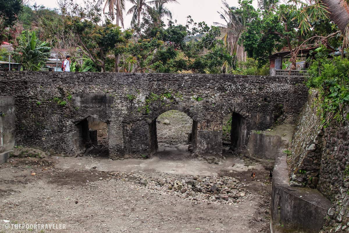
<path fill-rule="evenodd" d="M 23 31 L 22 35 L 17 38 L 17 43 L 13 57 L 18 63 L 22 63 L 23 70 L 42 70 L 50 56 L 49 44 L 39 41 L 35 31 Z"/>

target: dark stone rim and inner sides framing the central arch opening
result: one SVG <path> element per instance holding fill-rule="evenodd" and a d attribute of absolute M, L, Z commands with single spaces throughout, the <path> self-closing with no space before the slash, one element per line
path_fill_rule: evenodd
<path fill-rule="evenodd" d="M 168 111 L 177 110 L 180 112 L 184 112 L 188 117 L 192 118 L 192 131 L 188 136 L 188 142 L 190 141 L 191 148 L 190 151 L 194 152 L 196 149 L 197 135 L 198 135 L 198 116 L 193 114 L 190 109 L 184 108 L 178 105 L 172 105 L 171 107 L 161 108 L 157 111 L 153 111 L 149 115 L 149 119 L 151 123 L 149 123 L 149 132 L 150 132 L 150 155 L 154 155 L 158 149 L 158 139 L 157 139 L 157 128 L 156 128 L 156 120 L 157 118 Z"/>

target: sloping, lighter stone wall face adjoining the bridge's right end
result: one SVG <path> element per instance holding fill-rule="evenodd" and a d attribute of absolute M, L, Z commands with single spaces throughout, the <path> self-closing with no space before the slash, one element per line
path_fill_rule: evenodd
<path fill-rule="evenodd" d="M 295 187 L 315 188 L 319 182 L 319 170 L 322 153 L 320 118 L 314 99 L 317 91 L 312 90 L 308 101 L 299 115 L 297 126 L 292 136 L 290 158 L 290 185 Z"/>

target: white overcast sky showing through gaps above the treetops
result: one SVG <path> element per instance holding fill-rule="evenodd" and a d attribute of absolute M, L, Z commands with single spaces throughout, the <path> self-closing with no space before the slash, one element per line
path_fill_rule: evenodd
<path fill-rule="evenodd" d="M 82 0 L 72 0 L 83 2 Z M 104 2 L 105 0 L 103 0 Z M 57 0 L 30 0 L 29 4 L 44 5 L 47 8 L 58 8 Z M 221 0 L 178 0 L 179 3 L 169 3 L 166 6 L 172 12 L 172 20 L 177 20 L 179 24 L 185 24 L 188 15 L 192 16 L 194 22 L 205 21 L 208 25 L 214 22 L 222 22 L 217 11 L 221 11 Z M 238 0 L 227 0 L 229 6 L 238 6 Z M 126 1 L 126 11 L 131 8 L 132 4 Z M 257 8 L 257 0 L 253 1 L 253 6 Z M 131 15 L 124 15 L 125 28 L 128 28 L 131 22 Z M 167 20 L 165 20 L 167 23 Z"/>

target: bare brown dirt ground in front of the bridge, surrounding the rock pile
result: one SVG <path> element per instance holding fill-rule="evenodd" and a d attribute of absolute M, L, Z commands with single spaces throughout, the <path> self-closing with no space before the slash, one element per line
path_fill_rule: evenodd
<path fill-rule="evenodd" d="M 271 184 L 262 165 L 245 166 L 239 158 L 214 165 L 166 154 L 123 161 L 27 155 L 0 165 L 0 232 L 269 232 Z M 130 174 L 149 181 L 237 177 L 246 196 L 231 205 L 194 203 L 173 190 L 136 184 Z M 66 229 L 6 228 L 22 223 L 65 224 Z"/>

